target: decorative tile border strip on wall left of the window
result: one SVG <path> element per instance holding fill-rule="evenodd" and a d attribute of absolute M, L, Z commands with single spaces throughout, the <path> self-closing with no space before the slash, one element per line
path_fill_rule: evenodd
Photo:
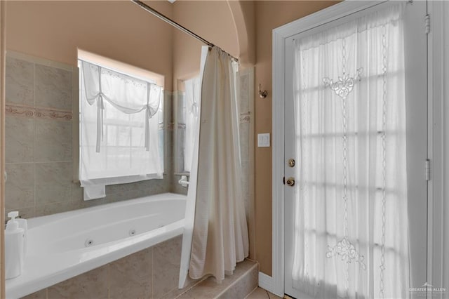
<path fill-rule="evenodd" d="M 73 117 L 71 111 L 50 108 L 35 108 L 11 104 L 6 104 L 5 112 L 6 115 L 12 115 L 15 117 L 36 117 L 39 119 L 52 119 L 56 121 L 71 121 Z"/>

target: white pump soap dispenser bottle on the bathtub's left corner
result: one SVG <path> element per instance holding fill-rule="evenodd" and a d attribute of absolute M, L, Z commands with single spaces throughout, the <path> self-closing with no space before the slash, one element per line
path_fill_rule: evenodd
<path fill-rule="evenodd" d="M 5 230 L 5 278 L 11 279 L 22 274 L 25 246 L 25 230 L 19 227 L 18 211 L 8 213 L 11 220 L 8 221 Z"/>

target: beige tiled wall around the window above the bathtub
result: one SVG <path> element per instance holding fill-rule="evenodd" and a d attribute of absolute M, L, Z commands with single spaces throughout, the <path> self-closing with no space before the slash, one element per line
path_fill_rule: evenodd
<path fill-rule="evenodd" d="M 72 106 L 78 69 L 8 51 L 6 57 L 6 213 L 24 218 L 170 192 L 173 182 L 172 95 L 164 96 L 163 180 L 106 187 L 106 197 L 83 201 L 74 182 Z M 75 104 L 74 104 L 75 103 Z M 171 129 L 170 129 L 171 128 Z M 76 131 L 75 131 L 76 132 Z"/>

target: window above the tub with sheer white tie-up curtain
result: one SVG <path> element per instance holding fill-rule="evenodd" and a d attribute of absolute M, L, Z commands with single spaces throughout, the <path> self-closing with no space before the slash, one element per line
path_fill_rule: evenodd
<path fill-rule="evenodd" d="M 163 178 L 163 90 L 155 80 L 80 57 L 79 180 L 84 199 L 105 185 Z"/>

